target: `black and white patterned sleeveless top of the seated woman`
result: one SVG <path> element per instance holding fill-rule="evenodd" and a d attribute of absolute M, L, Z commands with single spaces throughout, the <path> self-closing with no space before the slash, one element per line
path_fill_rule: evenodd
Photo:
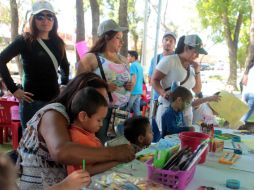
<path fill-rule="evenodd" d="M 18 148 L 18 165 L 21 171 L 20 190 L 46 189 L 67 176 L 65 166 L 51 158 L 46 143 L 38 133 L 41 118 L 48 110 L 61 113 L 69 123 L 65 107 L 60 103 L 52 103 L 43 107 L 27 123 L 28 127 Z"/>

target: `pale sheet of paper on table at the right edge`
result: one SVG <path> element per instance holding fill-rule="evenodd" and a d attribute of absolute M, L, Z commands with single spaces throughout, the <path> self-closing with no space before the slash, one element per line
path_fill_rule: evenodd
<path fill-rule="evenodd" d="M 254 173 L 253 157 L 242 155 L 230 168 Z"/>

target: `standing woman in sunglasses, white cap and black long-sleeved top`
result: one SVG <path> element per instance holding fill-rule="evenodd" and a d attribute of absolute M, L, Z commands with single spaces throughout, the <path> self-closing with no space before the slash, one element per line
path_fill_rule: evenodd
<path fill-rule="evenodd" d="M 32 6 L 29 32 L 25 32 L 0 54 L 0 74 L 8 90 L 20 100 L 22 127 L 37 110 L 59 94 L 58 68 L 61 84 L 68 82 L 69 64 L 63 40 L 57 34 L 58 22 L 52 5 L 37 1 Z M 21 55 L 22 88 L 13 81 L 7 63 Z"/>

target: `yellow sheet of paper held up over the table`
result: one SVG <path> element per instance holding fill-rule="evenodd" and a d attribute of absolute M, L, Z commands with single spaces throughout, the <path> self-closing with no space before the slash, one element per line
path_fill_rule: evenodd
<path fill-rule="evenodd" d="M 219 95 L 221 100 L 209 102 L 210 107 L 230 123 L 230 128 L 238 128 L 242 124 L 241 117 L 249 110 L 248 106 L 229 92 L 221 91 Z"/>

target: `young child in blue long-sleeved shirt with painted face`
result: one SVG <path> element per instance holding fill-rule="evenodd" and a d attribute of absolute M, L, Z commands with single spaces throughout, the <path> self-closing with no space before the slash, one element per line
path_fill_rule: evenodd
<path fill-rule="evenodd" d="M 182 131 L 194 131 L 193 127 L 186 126 L 183 119 L 183 111 L 191 106 L 192 98 L 191 92 L 182 86 L 172 92 L 171 104 L 161 118 L 162 137 Z"/>

